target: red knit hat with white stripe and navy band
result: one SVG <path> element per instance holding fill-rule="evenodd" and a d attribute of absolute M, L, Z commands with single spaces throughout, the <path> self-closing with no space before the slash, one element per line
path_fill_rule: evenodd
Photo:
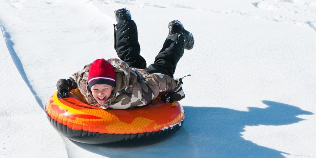
<path fill-rule="evenodd" d="M 105 59 L 96 59 L 90 66 L 88 85 L 108 84 L 115 87 L 115 73 L 113 66 Z"/>

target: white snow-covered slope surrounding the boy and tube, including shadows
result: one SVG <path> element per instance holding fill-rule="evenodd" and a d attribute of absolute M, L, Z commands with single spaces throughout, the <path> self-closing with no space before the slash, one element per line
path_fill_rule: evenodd
<path fill-rule="evenodd" d="M 117 58 L 113 11 L 131 10 L 149 65 L 179 20 L 195 39 L 177 65 L 186 117 L 146 146 L 89 145 L 44 111 L 60 78 Z M 0 157 L 316 157 L 313 0 L 0 1 Z"/>

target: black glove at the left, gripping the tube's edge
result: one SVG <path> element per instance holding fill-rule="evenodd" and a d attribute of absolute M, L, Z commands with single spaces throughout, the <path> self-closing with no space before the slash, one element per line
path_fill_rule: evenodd
<path fill-rule="evenodd" d="M 60 79 L 57 82 L 57 90 L 60 94 L 60 98 L 67 98 L 69 97 L 69 92 L 71 89 L 76 89 L 77 84 L 73 83 L 70 79 Z"/>

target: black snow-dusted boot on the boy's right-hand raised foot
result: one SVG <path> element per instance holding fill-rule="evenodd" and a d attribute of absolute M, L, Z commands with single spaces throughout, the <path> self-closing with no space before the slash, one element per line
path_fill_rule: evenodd
<path fill-rule="evenodd" d="M 185 30 L 182 23 L 178 20 L 169 22 L 169 33 L 183 33 L 184 34 L 184 48 L 190 50 L 194 46 L 194 38 L 192 33 Z"/>

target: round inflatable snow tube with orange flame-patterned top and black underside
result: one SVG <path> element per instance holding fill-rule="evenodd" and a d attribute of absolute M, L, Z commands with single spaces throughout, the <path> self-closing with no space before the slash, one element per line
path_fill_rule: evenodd
<path fill-rule="evenodd" d="M 78 89 L 71 90 L 69 98 L 57 94 L 46 104 L 47 118 L 59 133 L 81 143 L 161 140 L 179 131 L 185 118 L 178 102 L 159 97 L 148 106 L 118 110 L 88 105 Z"/>

